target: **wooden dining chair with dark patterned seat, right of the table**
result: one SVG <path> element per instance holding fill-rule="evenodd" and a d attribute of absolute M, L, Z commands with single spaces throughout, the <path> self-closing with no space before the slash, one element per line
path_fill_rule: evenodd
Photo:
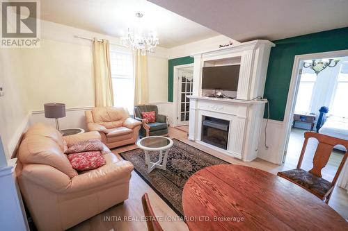
<path fill-rule="evenodd" d="M 344 166 L 347 160 L 348 140 L 329 137 L 328 135 L 322 135 L 316 132 L 305 132 L 304 137 L 305 140 L 302 146 L 299 163 L 297 164 L 296 169 L 292 169 L 289 171 L 281 171 L 278 172 L 277 175 L 287 180 L 290 180 L 291 182 L 294 182 L 296 185 L 303 187 L 303 189 L 310 191 L 310 193 L 314 194 L 321 200 L 325 200 L 325 203 L 327 204 L 329 203 L 330 196 L 333 191 L 333 187 L 335 187 L 335 183 L 338 179 L 338 176 L 340 176 L 342 167 Z M 317 139 L 319 144 L 313 157 L 313 168 L 310 169 L 310 171 L 305 171 L 301 169 L 301 164 L 303 160 L 303 155 L 306 151 L 308 139 L 311 137 Z M 333 146 L 338 144 L 345 146 L 346 152 L 342 158 L 340 166 L 338 166 L 338 170 L 335 173 L 333 181 L 329 182 L 328 180 L 324 180 L 322 178 L 322 169 L 326 166 L 327 162 L 329 162 Z"/>

